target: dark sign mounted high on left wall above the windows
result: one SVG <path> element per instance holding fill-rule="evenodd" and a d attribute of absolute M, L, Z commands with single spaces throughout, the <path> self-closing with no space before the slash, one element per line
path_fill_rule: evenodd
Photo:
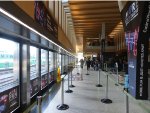
<path fill-rule="evenodd" d="M 58 26 L 53 17 L 49 14 L 42 1 L 35 1 L 34 18 L 45 29 L 50 31 L 55 38 L 58 38 Z"/>

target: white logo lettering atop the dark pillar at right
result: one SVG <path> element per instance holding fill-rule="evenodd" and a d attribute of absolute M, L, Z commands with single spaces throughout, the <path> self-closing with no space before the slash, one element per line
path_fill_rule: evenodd
<path fill-rule="evenodd" d="M 138 15 L 138 2 L 133 2 L 125 15 L 125 24 L 126 26 Z"/>

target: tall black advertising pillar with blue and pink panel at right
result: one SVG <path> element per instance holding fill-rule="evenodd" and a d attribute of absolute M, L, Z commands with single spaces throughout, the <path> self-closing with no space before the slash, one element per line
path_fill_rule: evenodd
<path fill-rule="evenodd" d="M 128 50 L 129 93 L 147 99 L 150 2 L 130 1 L 121 12 Z"/>

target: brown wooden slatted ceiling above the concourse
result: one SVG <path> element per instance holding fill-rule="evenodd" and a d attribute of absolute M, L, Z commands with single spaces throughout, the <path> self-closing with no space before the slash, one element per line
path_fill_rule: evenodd
<path fill-rule="evenodd" d="M 121 21 L 117 1 L 69 1 L 69 7 L 76 36 L 99 37 L 103 22 L 108 36 Z"/>

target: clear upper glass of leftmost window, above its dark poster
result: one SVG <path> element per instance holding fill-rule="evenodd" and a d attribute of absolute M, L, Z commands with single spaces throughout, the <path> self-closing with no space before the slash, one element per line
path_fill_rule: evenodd
<path fill-rule="evenodd" d="M 19 85 L 18 48 L 18 43 L 0 39 L 0 92 Z"/>

